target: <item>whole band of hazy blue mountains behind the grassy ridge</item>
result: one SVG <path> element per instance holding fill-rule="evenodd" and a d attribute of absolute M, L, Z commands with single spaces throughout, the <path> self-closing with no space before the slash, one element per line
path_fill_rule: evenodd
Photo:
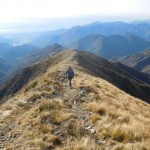
<path fill-rule="evenodd" d="M 150 24 L 143 22 L 94 22 L 44 33 L 5 35 L 0 37 L 1 68 L 6 68 L 5 71 L 1 69 L 0 82 L 10 77 L 12 73 L 15 74 L 20 69 L 65 49 L 79 49 L 111 59 L 147 49 L 150 47 L 149 39 Z M 28 44 L 14 46 L 12 42 L 14 44 L 28 42 Z M 149 67 L 146 64 L 144 69 L 139 69 L 139 66 L 135 68 L 148 73 Z"/>

